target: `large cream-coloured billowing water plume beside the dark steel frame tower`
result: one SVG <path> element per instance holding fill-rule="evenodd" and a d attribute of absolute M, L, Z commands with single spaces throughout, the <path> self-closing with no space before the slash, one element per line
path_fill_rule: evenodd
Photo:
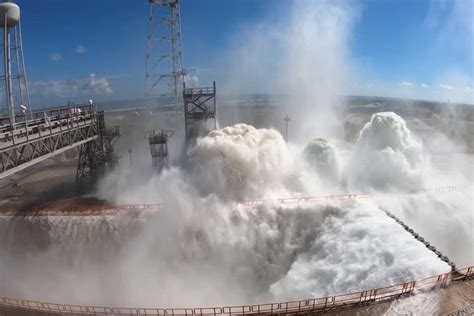
<path fill-rule="evenodd" d="M 192 178 L 203 193 L 220 197 L 278 196 L 291 173 L 291 158 L 280 133 L 237 124 L 197 140 L 191 153 Z"/>

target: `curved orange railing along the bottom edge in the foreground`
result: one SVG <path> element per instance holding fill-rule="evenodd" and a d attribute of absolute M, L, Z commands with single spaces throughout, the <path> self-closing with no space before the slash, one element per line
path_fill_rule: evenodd
<path fill-rule="evenodd" d="M 452 282 L 474 279 L 474 266 L 456 270 L 419 281 L 411 281 L 388 287 L 371 289 L 362 292 L 328 296 L 324 298 L 300 301 L 241 305 L 208 308 L 123 308 L 99 307 L 71 304 L 46 303 L 12 298 L 0 298 L 2 309 L 26 310 L 38 313 L 75 314 L 75 315 L 259 315 L 287 313 L 315 313 L 332 310 L 355 308 L 382 301 L 390 301 L 417 292 L 426 292 L 446 287 Z"/>

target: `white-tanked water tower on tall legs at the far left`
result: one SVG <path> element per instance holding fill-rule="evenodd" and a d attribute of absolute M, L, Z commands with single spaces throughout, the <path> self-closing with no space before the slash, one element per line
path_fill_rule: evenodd
<path fill-rule="evenodd" d="M 5 86 L 5 91 L 2 93 L 0 117 L 8 115 L 13 129 L 15 127 L 15 113 L 26 114 L 27 111 L 30 111 L 30 97 L 23 57 L 20 7 L 9 0 L 0 3 L 0 27 L 3 32 L 3 73 L 0 79 Z"/>

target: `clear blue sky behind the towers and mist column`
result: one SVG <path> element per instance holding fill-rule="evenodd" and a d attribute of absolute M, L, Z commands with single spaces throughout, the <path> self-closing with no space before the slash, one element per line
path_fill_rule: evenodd
<path fill-rule="evenodd" d="M 22 8 L 25 61 L 35 103 L 89 96 L 98 100 L 143 97 L 148 1 L 16 2 Z M 182 0 L 185 66 L 196 69 L 202 85 L 212 80 L 225 84 L 239 77 L 233 74 L 239 65 L 231 65 L 235 60 L 229 56 L 236 47 L 247 45 L 242 30 L 267 23 L 278 32 L 279 27 L 285 28 L 286 12 L 294 12 L 295 3 L 304 7 L 313 2 Z M 351 70 L 344 73 L 348 80 L 340 93 L 474 103 L 473 1 L 337 5 L 351 12 L 349 35 L 341 39 L 350 65 L 346 68 Z M 265 51 L 263 58 L 280 63 L 277 50 Z M 254 91 L 244 92 L 270 92 L 258 84 L 266 81 L 266 75 L 270 74 L 259 74 Z"/>

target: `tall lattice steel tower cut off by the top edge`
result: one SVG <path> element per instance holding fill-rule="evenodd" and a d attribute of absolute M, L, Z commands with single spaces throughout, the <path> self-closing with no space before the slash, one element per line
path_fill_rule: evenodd
<path fill-rule="evenodd" d="M 147 106 L 172 104 L 182 109 L 183 67 L 179 0 L 148 0 L 145 69 Z"/>

